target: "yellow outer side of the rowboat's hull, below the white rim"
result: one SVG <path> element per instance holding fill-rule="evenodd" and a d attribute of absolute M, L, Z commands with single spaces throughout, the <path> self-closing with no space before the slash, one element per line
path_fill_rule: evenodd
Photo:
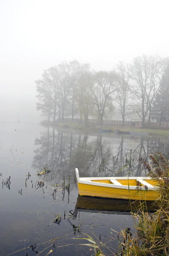
<path fill-rule="evenodd" d="M 140 189 L 120 189 L 105 186 L 96 186 L 78 183 L 79 195 L 100 197 L 100 198 L 116 198 L 128 200 L 155 201 L 159 197 L 159 192 L 155 190 Z"/>

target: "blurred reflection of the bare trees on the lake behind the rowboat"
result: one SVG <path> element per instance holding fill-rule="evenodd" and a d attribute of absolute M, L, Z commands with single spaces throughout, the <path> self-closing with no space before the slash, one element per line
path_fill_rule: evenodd
<path fill-rule="evenodd" d="M 167 140 L 167 139 L 166 139 Z M 48 166 L 58 179 L 74 177 L 77 167 L 81 177 L 144 176 L 147 175 L 139 159 L 148 160 L 153 151 L 167 152 L 169 142 L 155 137 L 76 134 L 47 128 L 35 139 L 32 166 Z"/>

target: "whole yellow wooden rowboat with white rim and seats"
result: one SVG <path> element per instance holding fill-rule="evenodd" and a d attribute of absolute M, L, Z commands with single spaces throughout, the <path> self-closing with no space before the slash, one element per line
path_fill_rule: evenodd
<path fill-rule="evenodd" d="M 79 195 L 101 198 L 154 201 L 159 197 L 151 177 L 86 177 L 80 178 L 76 168 Z"/>

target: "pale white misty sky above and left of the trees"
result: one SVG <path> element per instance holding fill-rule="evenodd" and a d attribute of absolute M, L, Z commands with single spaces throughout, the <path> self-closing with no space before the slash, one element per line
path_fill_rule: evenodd
<path fill-rule="evenodd" d="M 111 70 L 169 56 L 168 11 L 169 0 L 0 0 L 0 120 L 39 115 L 34 81 L 61 61 Z"/>

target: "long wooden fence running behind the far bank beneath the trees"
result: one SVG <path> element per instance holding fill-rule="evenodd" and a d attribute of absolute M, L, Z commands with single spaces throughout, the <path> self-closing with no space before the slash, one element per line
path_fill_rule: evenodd
<path fill-rule="evenodd" d="M 59 120 L 57 120 L 59 121 Z M 61 121 L 61 120 L 60 120 Z M 72 122 L 72 118 L 64 118 L 64 122 Z M 74 118 L 73 122 L 84 124 L 85 120 L 80 118 Z M 140 121 L 125 121 L 124 126 L 132 126 L 135 128 L 141 128 L 141 120 Z M 98 119 L 89 119 L 89 125 L 98 125 Z M 123 126 L 122 120 L 109 120 L 109 119 L 103 119 L 103 126 Z M 162 129 L 162 130 L 169 130 L 169 122 L 150 122 L 150 125 L 148 125 L 148 122 L 145 122 L 145 128 L 149 129 Z"/>

